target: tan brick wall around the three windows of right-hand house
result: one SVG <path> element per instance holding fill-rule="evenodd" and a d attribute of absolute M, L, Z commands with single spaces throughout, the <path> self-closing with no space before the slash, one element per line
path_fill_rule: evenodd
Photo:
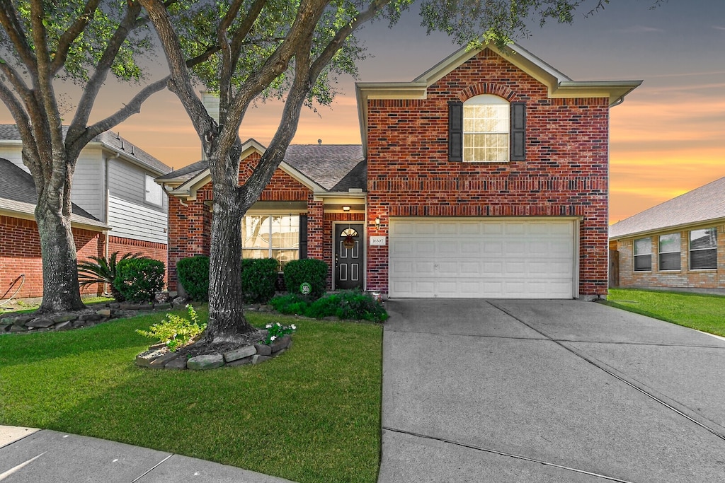
<path fill-rule="evenodd" d="M 706 225 L 702 228 L 711 228 L 713 225 Z M 680 269 L 660 270 L 658 235 L 673 233 L 669 230 L 660 234 L 637 236 L 635 238 L 652 239 L 652 270 L 647 272 L 634 271 L 634 240 L 625 238 L 616 240 L 616 250 L 619 256 L 619 280 L 618 287 L 665 287 L 665 288 L 692 288 L 692 289 L 716 289 L 725 290 L 725 225 L 717 225 L 718 231 L 718 261 L 716 269 L 689 269 L 689 231 L 684 230 L 680 234 Z M 676 233 L 677 231 L 675 231 Z"/>

